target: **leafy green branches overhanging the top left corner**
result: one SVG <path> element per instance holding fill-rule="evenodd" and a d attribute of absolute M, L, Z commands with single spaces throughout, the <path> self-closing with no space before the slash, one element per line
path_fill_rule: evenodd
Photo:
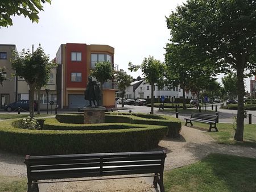
<path fill-rule="evenodd" d="M 0 26 L 8 27 L 13 25 L 11 16 L 28 16 L 32 22 L 38 23 L 39 11 L 43 11 L 43 3 L 51 4 L 51 0 L 2 0 L 0 2 Z"/>

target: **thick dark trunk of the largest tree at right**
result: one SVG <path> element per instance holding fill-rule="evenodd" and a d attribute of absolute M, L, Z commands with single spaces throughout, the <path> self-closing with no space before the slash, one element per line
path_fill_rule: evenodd
<path fill-rule="evenodd" d="M 243 97 L 245 95 L 245 85 L 243 84 L 243 70 L 245 68 L 245 57 L 238 58 L 237 63 L 237 88 L 238 88 L 238 104 L 237 104 L 237 129 L 234 140 L 243 140 L 243 121 L 245 119 L 245 108 L 243 105 Z"/>

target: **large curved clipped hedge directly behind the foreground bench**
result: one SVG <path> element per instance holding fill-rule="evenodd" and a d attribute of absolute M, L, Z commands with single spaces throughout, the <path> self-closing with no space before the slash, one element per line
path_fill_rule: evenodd
<path fill-rule="evenodd" d="M 25 130 L 16 127 L 20 121 L 1 122 L 1 149 L 22 155 L 146 151 L 158 147 L 168 131 L 166 126 L 125 123 L 99 124 L 105 130 L 97 130 L 97 124 L 61 124 L 51 118 L 40 120 L 44 123 L 43 129 L 62 127 L 62 130 Z M 119 129 L 109 130 L 109 126 Z M 67 127 L 69 130 L 64 131 Z"/>

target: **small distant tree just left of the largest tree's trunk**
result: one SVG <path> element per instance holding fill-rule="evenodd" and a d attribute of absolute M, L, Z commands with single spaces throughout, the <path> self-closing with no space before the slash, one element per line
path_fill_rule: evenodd
<path fill-rule="evenodd" d="M 237 74 L 229 73 L 227 76 L 221 78 L 222 84 L 224 85 L 224 89 L 226 93 L 229 94 L 229 98 L 236 98 L 238 89 L 237 89 Z"/>

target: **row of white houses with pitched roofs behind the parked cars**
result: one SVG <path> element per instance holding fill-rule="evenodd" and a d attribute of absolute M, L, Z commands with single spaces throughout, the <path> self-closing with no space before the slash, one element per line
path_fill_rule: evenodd
<path fill-rule="evenodd" d="M 183 93 L 182 89 L 177 87 L 171 87 L 171 86 L 164 86 L 163 89 L 158 90 L 158 85 L 154 85 L 154 98 L 161 98 L 161 96 L 164 96 L 164 98 L 182 98 Z M 192 98 L 193 95 L 191 91 L 185 92 L 185 98 Z M 125 90 L 125 98 L 130 99 L 150 99 L 151 98 L 151 85 L 148 84 L 144 78 L 137 78 L 137 80 L 133 81 L 129 87 Z"/>

